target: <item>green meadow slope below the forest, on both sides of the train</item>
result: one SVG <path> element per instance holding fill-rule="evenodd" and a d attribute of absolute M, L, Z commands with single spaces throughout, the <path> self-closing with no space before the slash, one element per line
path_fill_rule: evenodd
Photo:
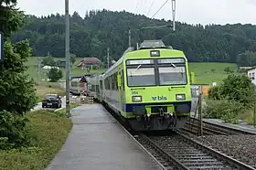
<path fill-rule="evenodd" d="M 55 58 L 56 60 L 58 58 Z M 63 59 L 63 58 L 62 58 Z M 77 68 L 76 66 L 80 63 L 80 60 L 82 58 L 77 58 L 75 64 L 72 66 L 72 69 L 70 70 L 71 76 L 80 76 L 84 75 L 87 72 L 85 69 Z M 34 78 L 37 80 L 37 58 L 32 57 L 29 58 L 29 61 L 27 61 L 28 70 L 27 73 L 30 75 L 31 78 Z M 225 68 L 229 67 L 229 69 L 233 70 L 234 72 L 237 72 L 237 65 L 236 64 L 230 64 L 230 63 L 216 63 L 216 62 L 191 62 L 189 65 L 189 71 L 195 72 L 195 83 L 197 84 L 208 84 L 212 82 L 219 83 L 221 80 L 226 78 L 228 76 L 228 73 L 224 71 Z M 65 69 L 63 70 L 63 78 L 62 80 L 65 80 Z M 92 69 L 91 73 L 99 73 L 103 72 L 104 69 Z M 47 70 L 41 69 L 41 78 L 46 79 L 47 78 Z"/>

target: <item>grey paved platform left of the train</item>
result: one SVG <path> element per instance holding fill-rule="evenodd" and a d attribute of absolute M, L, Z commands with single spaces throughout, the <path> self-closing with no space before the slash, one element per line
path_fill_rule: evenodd
<path fill-rule="evenodd" d="M 101 104 L 71 112 L 73 128 L 46 170 L 160 170 Z"/>

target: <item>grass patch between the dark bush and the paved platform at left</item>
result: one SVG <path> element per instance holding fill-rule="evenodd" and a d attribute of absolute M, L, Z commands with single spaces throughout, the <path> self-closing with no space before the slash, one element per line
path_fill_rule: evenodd
<path fill-rule="evenodd" d="M 27 113 L 29 132 L 37 139 L 31 149 L 0 152 L 1 170 L 44 169 L 62 147 L 72 127 L 70 120 L 54 112 Z"/>

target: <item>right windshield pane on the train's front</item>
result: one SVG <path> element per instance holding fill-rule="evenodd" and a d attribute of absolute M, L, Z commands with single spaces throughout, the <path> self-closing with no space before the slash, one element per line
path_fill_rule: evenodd
<path fill-rule="evenodd" d="M 187 75 L 185 66 L 159 66 L 160 85 L 178 85 L 187 84 Z"/>

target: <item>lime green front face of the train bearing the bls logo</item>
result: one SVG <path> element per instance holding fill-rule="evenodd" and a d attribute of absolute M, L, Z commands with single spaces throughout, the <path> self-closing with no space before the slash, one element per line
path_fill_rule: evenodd
<path fill-rule="evenodd" d="M 144 49 L 126 59 L 124 110 L 138 131 L 182 128 L 191 109 L 187 58 L 182 51 Z M 180 56 L 180 57 L 179 57 Z"/>

